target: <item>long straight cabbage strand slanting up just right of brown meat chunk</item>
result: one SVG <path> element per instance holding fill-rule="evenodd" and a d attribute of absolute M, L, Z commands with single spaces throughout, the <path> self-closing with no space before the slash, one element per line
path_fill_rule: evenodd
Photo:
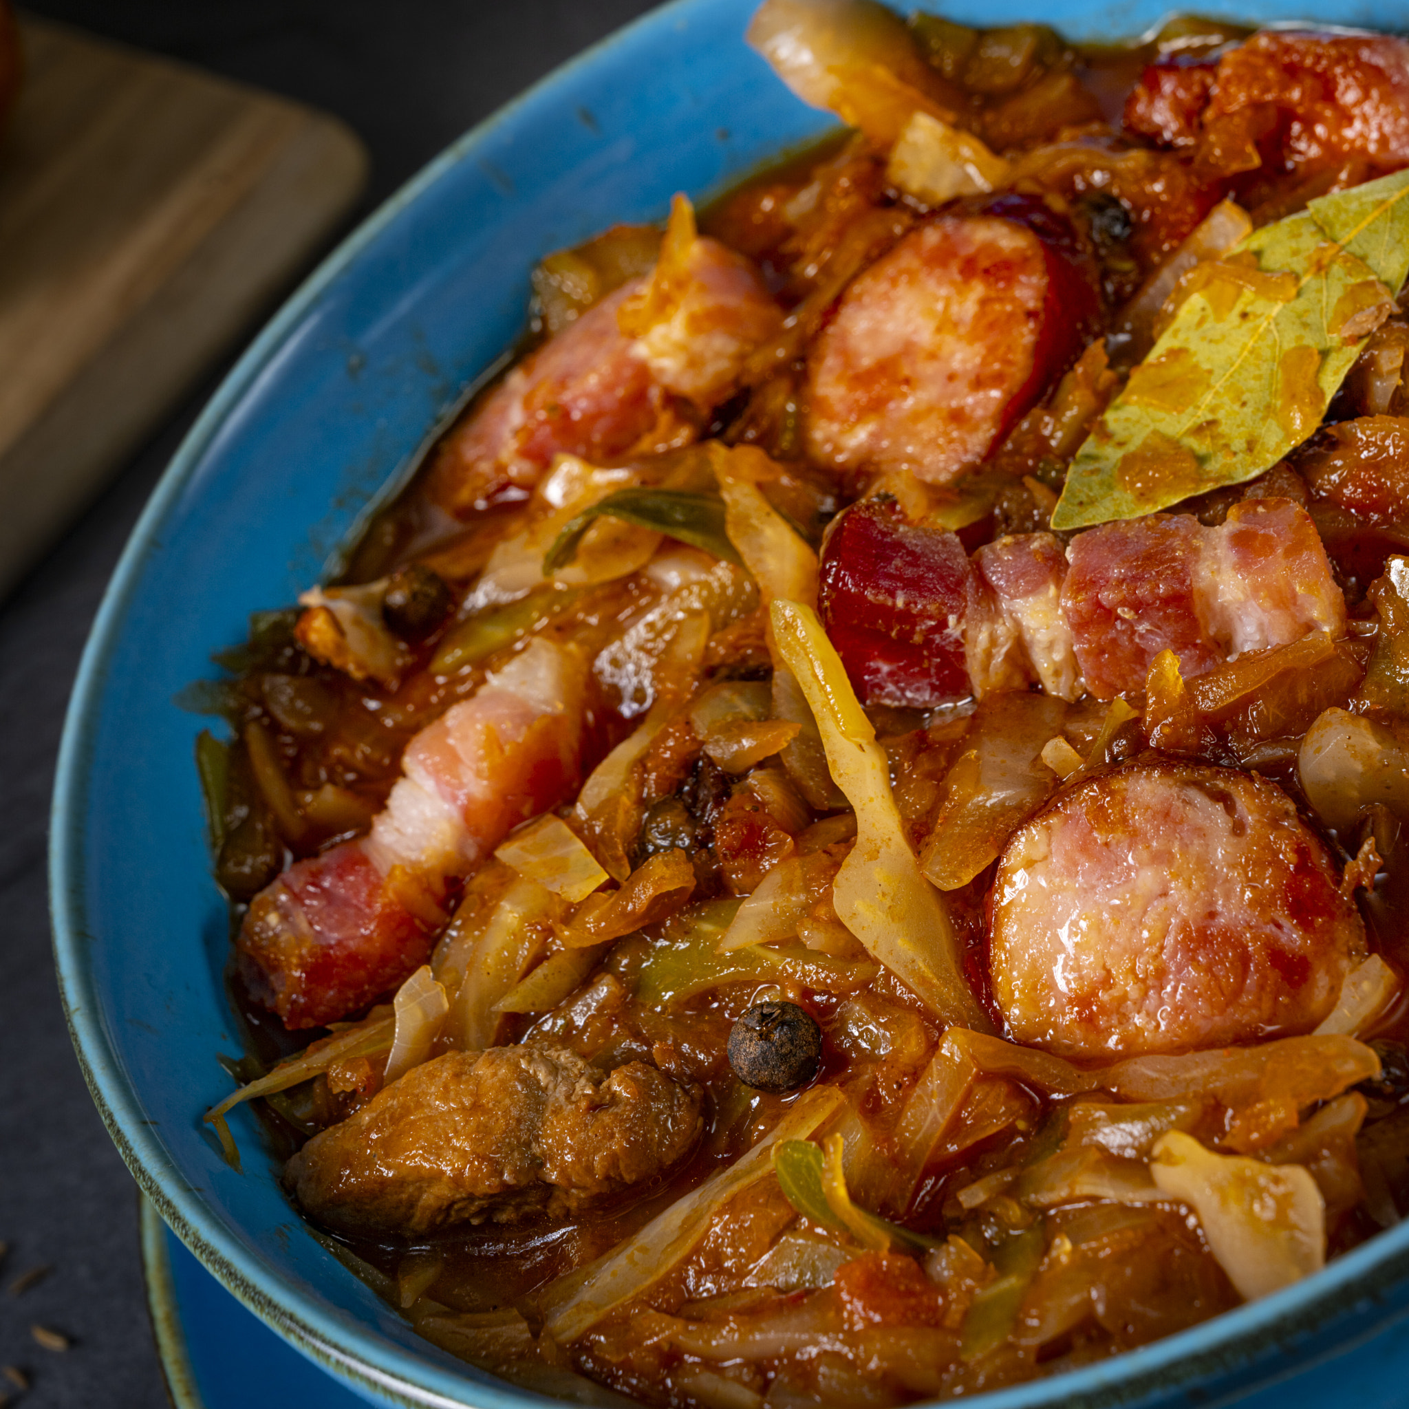
<path fill-rule="evenodd" d="M 648 1291 L 695 1250 L 713 1216 L 735 1193 L 774 1171 L 774 1146 L 806 1140 L 843 1103 L 834 1086 L 803 1092 L 783 1119 L 727 1169 L 678 1199 L 602 1261 L 559 1278 L 542 1293 L 544 1334 L 559 1346 L 585 1336 L 623 1302 Z"/>

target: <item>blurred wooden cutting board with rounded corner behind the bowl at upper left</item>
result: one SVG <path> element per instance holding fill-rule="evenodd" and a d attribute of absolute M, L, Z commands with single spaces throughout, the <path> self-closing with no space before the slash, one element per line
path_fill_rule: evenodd
<path fill-rule="evenodd" d="M 21 18 L 0 138 L 0 593 L 344 220 L 341 123 Z"/>

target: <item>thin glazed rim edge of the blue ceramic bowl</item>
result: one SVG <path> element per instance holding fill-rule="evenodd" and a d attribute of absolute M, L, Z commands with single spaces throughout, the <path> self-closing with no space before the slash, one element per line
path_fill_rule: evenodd
<path fill-rule="evenodd" d="M 93 619 L 63 723 L 55 771 L 49 834 L 49 900 L 55 967 L 65 1022 L 85 1082 L 138 1186 L 162 1219 L 216 1278 L 251 1312 L 324 1370 L 376 1402 L 437 1409 L 523 1409 L 526 1403 L 558 1403 L 465 1365 L 452 1371 L 404 1350 L 369 1326 L 348 1326 L 348 1313 L 317 1305 L 297 1288 L 266 1289 L 269 1272 L 206 1208 L 144 1123 L 135 1089 L 121 1072 L 107 1041 L 93 975 L 85 954 L 92 934 L 83 896 L 85 802 L 94 766 L 93 733 L 101 710 L 104 682 L 124 617 L 142 589 L 145 559 L 168 513 L 192 480 L 224 424 L 306 317 L 340 276 L 404 210 L 447 178 L 499 128 L 534 106 L 551 101 L 565 79 L 595 66 L 609 51 L 643 42 L 655 31 L 678 25 L 717 0 L 668 0 L 573 55 L 469 128 L 431 158 L 403 186 L 364 218 L 279 307 L 255 335 L 201 409 L 152 490 L 117 562 Z M 924 4 L 924 0 L 921 0 Z M 929 7 L 926 4 L 926 7 Z M 1175 7 L 1171 6 L 1171 13 Z M 1293 21 L 1278 21 L 1293 23 Z M 393 476 L 395 478 L 395 476 Z M 1148 1395 L 1175 1395 L 1219 1372 L 1253 1371 L 1240 1386 L 1250 1389 L 1284 1378 L 1264 1361 L 1268 1353 L 1315 1339 L 1327 1323 L 1354 1306 L 1361 1313 L 1348 1336 L 1313 1346 L 1295 1371 L 1309 1368 L 1409 1317 L 1391 1289 L 1409 1275 L 1409 1223 L 1385 1230 L 1337 1257 L 1322 1271 L 1258 1302 L 1244 1303 L 1188 1330 L 1064 1372 L 978 1396 L 983 1409 L 1036 1409 L 1038 1405 L 1105 1406 Z M 1372 1324 L 1367 1308 L 1378 1308 Z M 1322 1337 L 1324 1340 L 1324 1337 Z M 1260 1370 L 1257 1367 L 1261 1367 Z M 968 1399 L 969 1396 L 965 1396 Z M 1220 1396 L 1222 1399 L 1222 1396 Z"/>

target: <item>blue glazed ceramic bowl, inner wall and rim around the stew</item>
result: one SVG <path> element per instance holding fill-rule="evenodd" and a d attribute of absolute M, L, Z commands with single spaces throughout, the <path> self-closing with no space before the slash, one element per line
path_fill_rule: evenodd
<path fill-rule="evenodd" d="M 225 907 L 210 879 L 173 696 L 251 610 L 324 572 L 427 433 L 520 331 L 528 271 L 676 190 L 719 190 L 827 118 L 743 42 L 754 0 L 676 0 L 457 142 L 352 235 L 245 354 L 152 496 L 83 657 L 54 800 L 55 950 L 108 1131 L 176 1233 L 271 1326 L 373 1402 L 509 1409 L 526 1395 L 417 1339 L 306 1230 L 261 1131 L 227 1168 L 201 1112 L 228 1091 Z M 1165 0 L 955 0 L 976 24 L 1040 18 L 1126 37 Z M 1409 28 L 1409 0 L 1196 0 L 1231 18 Z M 1409 1226 L 1195 1330 L 985 1399 L 1208 1403 L 1409 1308 Z"/>

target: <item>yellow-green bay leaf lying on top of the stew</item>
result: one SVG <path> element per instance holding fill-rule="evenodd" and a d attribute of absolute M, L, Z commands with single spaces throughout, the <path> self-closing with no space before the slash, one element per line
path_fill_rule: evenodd
<path fill-rule="evenodd" d="M 1208 261 L 1076 452 L 1053 528 L 1255 479 L 1320 424 L 1409 273 L 1409 170 L 1322 196 Z"/>

